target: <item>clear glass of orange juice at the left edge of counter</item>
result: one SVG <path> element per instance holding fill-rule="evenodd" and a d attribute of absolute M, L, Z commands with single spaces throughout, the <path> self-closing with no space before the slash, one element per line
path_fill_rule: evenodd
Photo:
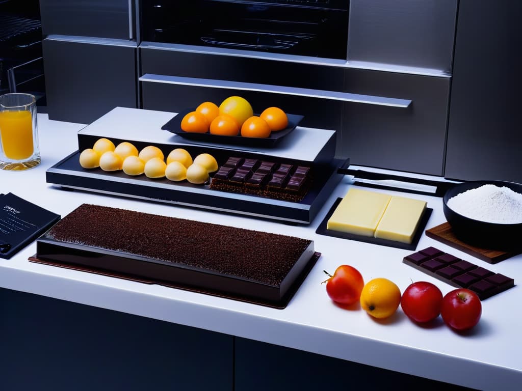
<path fill-rule="evenodd" d="M 0 95 L 0 168 L 26 170 L 40 161 L 36 98 L 23 93 Z"/>

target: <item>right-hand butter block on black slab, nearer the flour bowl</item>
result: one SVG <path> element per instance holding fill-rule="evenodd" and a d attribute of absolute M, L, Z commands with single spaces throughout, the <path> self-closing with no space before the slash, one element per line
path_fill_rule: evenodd
<path fill-rule="evenodd" d="M 375 237 L 411 243 L 426 209 L 426 201 L 392 196 L 375 230 Z"/>

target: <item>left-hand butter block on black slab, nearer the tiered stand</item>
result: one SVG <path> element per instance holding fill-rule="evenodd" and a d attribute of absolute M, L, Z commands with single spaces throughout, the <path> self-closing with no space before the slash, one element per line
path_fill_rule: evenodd
<path fill-rule="evenodd" d="M 349 234 L 374 236 L 392 196 L 351 188 L 328 219 L 326 228 Z"/>

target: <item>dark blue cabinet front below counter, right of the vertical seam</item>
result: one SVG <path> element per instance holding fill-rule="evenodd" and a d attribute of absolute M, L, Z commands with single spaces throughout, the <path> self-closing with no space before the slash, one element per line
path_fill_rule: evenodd
<path fill-rule="evenodd" d="M 377 389 L 390 384 L 426 391 L 469 389 L 239 337 L 234 362 L 235 391 Z"/>

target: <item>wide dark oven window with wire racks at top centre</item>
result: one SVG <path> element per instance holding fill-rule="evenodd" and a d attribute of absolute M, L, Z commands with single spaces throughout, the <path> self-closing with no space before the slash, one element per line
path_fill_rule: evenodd
<path fill-rule="evenodd" d="M 349 0 L 144 0 L 144 41 L 346 59 Z"/>

